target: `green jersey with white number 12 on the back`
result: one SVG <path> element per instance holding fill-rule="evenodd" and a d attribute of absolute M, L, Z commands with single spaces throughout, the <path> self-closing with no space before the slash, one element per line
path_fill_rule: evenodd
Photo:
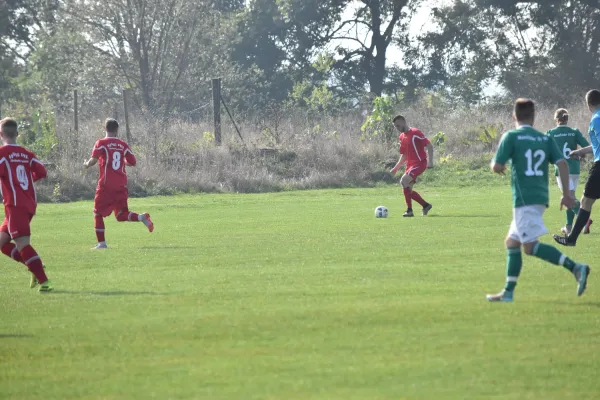
<path fill-rule="evenodd" d="M 529 125 L 506 132 L 494 162 L 504 165 L 511 161 L 513 207 L 548 206 L 548 163 L 562 159 L 554 139 Z"/>

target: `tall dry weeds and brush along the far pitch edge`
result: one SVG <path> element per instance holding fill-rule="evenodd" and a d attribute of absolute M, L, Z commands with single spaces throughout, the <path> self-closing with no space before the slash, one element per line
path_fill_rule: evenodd
<path fill-rule="evenodd" d="M 86 94 L 78 97 L 77 126 L 73 109 L 4 107 L 5 115 L 14 112 L 20 120 L 21 142 L 49 166 L 48 179 L 38 185 L 42 201 L 93 198 L 97 171 L 84 174 L 82 165 L 103 137 L 107 117 L 120 121 L 120 135 L 126 139 L 122 99 L 97 106 L 86 102 Z M 235 125 L 222 118 L 222 144 L 217 146 L 211 99 L 198 103 L 195 110 L 168 117 L 131 107 L 130 145 L 138 158 L 138 165 L 128 169 L 133 196 L 365 187 L 395 181 L 389 169 L 398 158 L 397 144 L 385 143 L 376 134 L 365 136 L 360 110 L 327 115 L 277 105 L 262 116 L 234 113 Z M 553 111 L 539 110 L 540 130 L 553 126 Z M 502 132 L 513 126 L 510 109 L 415 104 L 394 108 L 384 119 L 396 112 L 434 143 L 438 167 L 424 181 L 458 186 L 498 182 L 487 166 Z M 572 126 L 587 126 L 587 110 L 571 107 L 570 113 Z"/>

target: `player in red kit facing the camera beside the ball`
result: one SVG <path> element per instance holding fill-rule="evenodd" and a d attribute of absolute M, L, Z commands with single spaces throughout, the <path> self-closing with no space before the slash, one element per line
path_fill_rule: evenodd
<path fill-rule="evenodd" d="M 431 204 L 423 200 L 419 193 L 413 190 L 413 185 L 417 182 L 417 177 L 421 175 L 426 168 L 433 167 L 433 146 L 429 140 L 423 135 L 423 132 L 416 128 L 411 128 L 406 123 L 406 118 L 402 115 L 394 117 L 394 126 L 400 132 L 398 141 L 400 142 L 400 160 L 396 166 L 390 171 L 392 175 L 400 169 L 402 164 L 406 163 L 406 170 L 400 184 L 404 191 L 404 199 L 408 207 L 403 217 L 414 217 L 412 211 L 412 201 L 416 201 L 423 207 L 423 215 L 433 207 Z"/>

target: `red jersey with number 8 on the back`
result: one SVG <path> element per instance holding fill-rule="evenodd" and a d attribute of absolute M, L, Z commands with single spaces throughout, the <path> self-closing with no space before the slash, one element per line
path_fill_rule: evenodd
<path fill-rule="evenodd" d="M 92 157 L 98 159 L 98 190 L 117 191 L 127 187 L 125 164 L 134 166 L 135 156 L 129 145 L 119 138 L 106 137 L 94 145 Z"/>

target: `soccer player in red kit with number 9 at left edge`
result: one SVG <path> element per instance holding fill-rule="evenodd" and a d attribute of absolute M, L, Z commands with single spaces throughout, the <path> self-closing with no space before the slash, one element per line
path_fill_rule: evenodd
<path fill-rule="evenodd" d="M 46 177 L 46 167 L 35 154 L 17 144 L 18 125 L 11 118 L 0 120 L 0 184 L 4 201 L 4 221 L 0 226 L 2 253 L 21 262 L 31 271 L 30 287 L 40 292 L 54 288 L 44 272 L 40 256 L 30 244 L 30 223 L 37 200 L 33 182 Z M 14 243 L 12 243 L 14 242 Z"/>

